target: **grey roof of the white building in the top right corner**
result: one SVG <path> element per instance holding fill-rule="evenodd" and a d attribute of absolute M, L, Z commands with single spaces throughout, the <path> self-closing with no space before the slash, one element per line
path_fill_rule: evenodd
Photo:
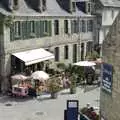
<path fill-rule="evenodd" d="M 100 0 L 103 6 L 120 7 L 120 0 Z"/>

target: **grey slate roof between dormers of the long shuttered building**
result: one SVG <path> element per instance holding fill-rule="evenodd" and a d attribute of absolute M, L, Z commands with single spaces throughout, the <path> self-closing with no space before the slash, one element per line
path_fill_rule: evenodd
<path fill-rule="evenodd" d="M 19 0 L 19 9 L 14 12 L 10 12 L 0 3 L 0 12 L 5 15 L 15 15 L 15 16 L 91 16 L 79 11 L 77 9 L 76 13 L 68 13 L 62 9 L 56 0 L 47 0 L 47 10 L 39 13 L 28 6 L 25 0 Z"/>

